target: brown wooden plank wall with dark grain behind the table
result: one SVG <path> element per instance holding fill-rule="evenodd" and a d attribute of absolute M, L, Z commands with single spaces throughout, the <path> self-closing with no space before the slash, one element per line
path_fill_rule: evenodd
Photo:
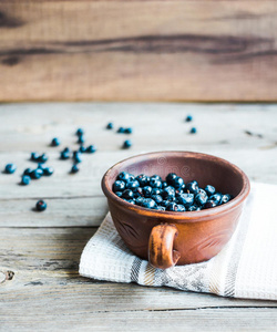
<path fill-rule="evenodd" d="M 277 1 L 0 0 L 0 101 L 277 101 Z"/>

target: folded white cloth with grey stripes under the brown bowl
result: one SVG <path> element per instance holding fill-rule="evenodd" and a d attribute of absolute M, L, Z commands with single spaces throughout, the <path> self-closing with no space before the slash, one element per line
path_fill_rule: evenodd
<path fill-rule="evenodd" d="M 107 214 L 85 246 L 80 274 L 98 280 L 173 287 L 222 297 L 277 300 L 277 186 L 252 184 L 236 231 L 209 261 L 153 268 L 132 253 Z"/>

